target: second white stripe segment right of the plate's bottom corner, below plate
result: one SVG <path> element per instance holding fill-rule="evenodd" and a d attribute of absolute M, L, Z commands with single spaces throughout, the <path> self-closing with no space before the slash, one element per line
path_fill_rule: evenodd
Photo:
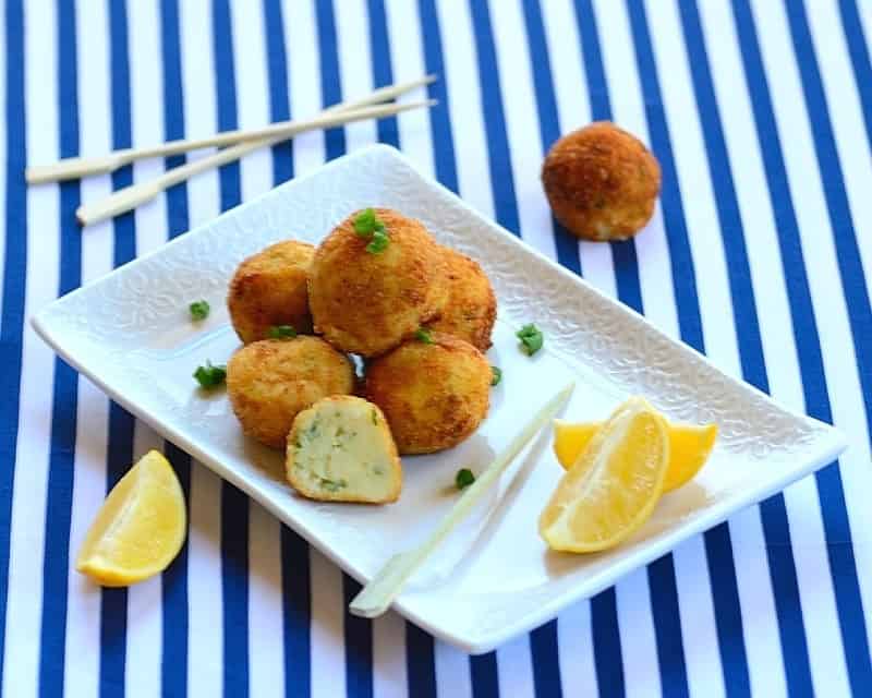
<path fill-rule="evenodd" d="M 576 603 L 560 613 L 557 637 L 564 695 L 597 695 L 590 601 Z"/>

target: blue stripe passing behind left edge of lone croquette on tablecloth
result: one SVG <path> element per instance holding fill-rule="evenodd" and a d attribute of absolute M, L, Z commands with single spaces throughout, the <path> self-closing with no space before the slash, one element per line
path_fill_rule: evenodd
<path fill-rule="evenodd" d="M 538 133 L 543 151 L 560 137 L 560 122 L 557 112 L 557 99 L 552 80 L 552 62 L 548 45 L 545 39 L 545 25 L 542 22 L 542 9 L 538 0 L 524 0 L 524 26 L 530 44 L 530 68 L 533 73 L 533 88 L 538 108 Z M 543 153 L 544 155 L 544 153 Z M 581 274 L 579 258 L 579 241 L 552 216 L 552 231 L 557 261 L 576 274 Z"/>

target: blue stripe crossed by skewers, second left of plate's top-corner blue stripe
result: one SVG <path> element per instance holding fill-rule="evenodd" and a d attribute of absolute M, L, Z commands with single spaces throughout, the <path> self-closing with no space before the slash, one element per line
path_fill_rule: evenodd
<path fill-rule="evenodd" d="M 288 96 L 288 51 L 284 48 L 284 23 L 279 0 L 264 0 L 269 116 L 276 121 L 291 118 Z M 272 146 L 272 183 L 281 184 L 293 177 L 293 141 Z"/>

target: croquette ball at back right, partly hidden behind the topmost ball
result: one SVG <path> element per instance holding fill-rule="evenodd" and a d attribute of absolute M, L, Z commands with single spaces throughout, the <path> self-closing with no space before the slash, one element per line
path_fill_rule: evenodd
<path fill-rule="evenodd" d="M 445 304 L 431 329 L 465 339 L 480 351 L 491 348 L 491 332 L 497 317 L 497 299 L 477 262 L 465 254 L 441 248 L 447 287 Z"/>

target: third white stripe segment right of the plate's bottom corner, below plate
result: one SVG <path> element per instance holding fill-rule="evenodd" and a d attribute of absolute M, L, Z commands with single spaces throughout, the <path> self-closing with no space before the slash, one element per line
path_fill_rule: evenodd
<path fill-rule="evenodd" d="M 658 696 L 657 640 L 645 568 L 621 578 L 615 593 L 627 696 Z"/>

